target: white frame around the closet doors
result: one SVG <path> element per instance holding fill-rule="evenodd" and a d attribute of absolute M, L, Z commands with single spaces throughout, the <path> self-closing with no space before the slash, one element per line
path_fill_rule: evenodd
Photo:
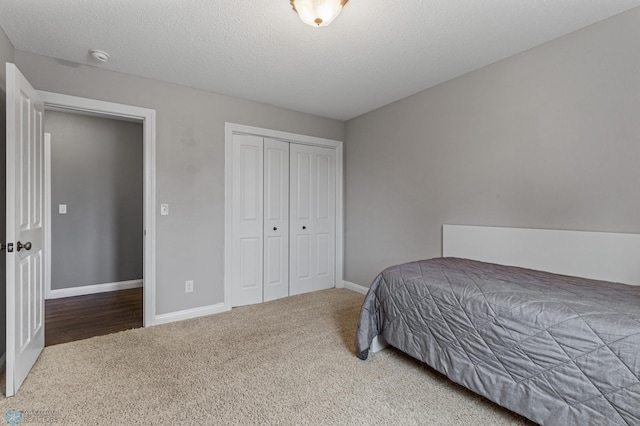
<path fill-rule="evenodd" d="M 233 136 L 254 135 L 263 138 L 278 139 L 284 142 L 301 145 L 320 146 L 334 149 L 336 152 L 335 182 L 336 182 L 336 235 L 335 235 L 335 283 L 336 288 L 344 288 L 344 200 L 343 200 L 343 142 L 317 138 L 314 136 L 300 135 L 296 133 L 281 132 L 278 130 L 264 129 L 260 127 L 245 126 L 236 123 L 225 123 L 225 232 L 224 232 L 224 306 L 231 309 L 231 295 L 233 292 L 231 282 L 232 265 L 232 200 L 233 200 Z"/>

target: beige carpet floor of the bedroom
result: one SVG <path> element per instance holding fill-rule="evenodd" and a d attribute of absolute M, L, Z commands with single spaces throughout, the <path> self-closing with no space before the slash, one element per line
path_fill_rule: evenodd
<path fill-rule="evenodd" d="M 69 425 L 528 424 L 396 350 L 359 360 L 362 301 L 326 290 L 47 347 L 0 415 Z"/>

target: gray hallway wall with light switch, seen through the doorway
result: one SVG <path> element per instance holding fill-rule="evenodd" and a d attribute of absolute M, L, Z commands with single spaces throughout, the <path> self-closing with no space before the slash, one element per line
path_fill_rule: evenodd
<path fill-rule="evenodd" d="M 142 123 L 47 111 L 45 131 L 51 288 L 142 279 Z"/>

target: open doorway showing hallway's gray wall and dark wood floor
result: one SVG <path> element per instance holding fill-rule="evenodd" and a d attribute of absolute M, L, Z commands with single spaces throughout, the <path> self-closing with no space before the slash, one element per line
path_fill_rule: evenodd
<path fill-rule="evenodd" d="M 142 123 L 45 117 L 45 346 L 142 327 Z"/>

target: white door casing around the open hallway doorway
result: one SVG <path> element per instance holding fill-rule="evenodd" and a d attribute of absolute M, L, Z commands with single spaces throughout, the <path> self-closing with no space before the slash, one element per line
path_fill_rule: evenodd
<path fill-rule="evenodd" d="M 44 100 L 47 108 L 71 109 L 142 122 L 144 152 L 144 326 L 153 325 L 156 316 L 156 111 L 60 93 L 38 91 L 38 94 Z"/>

